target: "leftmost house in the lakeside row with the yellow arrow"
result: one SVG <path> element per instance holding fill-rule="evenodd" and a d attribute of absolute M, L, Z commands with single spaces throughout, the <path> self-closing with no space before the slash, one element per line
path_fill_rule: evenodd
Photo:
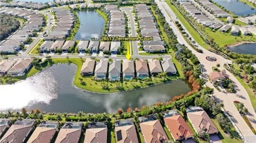
<path fill-rule="evenodd" d="M 93 71 L 95 69 L 95 59 L 86 59 L 81 67 L 81 75 L 82 76 L 88 76 L 93 74 Z"/>

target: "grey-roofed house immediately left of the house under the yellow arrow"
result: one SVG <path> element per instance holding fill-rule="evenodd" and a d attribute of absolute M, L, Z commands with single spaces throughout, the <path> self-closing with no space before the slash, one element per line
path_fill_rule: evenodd
<path fill-rule="evenodd" d="M 108 80 L 119 81 L 121 74 L 121 60 L 114 60 L 110 62 L 110 67 L 108 68 Z"/>

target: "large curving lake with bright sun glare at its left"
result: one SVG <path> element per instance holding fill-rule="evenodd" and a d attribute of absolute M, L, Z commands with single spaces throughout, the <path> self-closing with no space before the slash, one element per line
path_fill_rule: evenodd
<path fill-rule="evenodd" d="M 76 88 L 72 82 L 77 67 L 58 64 L 12 85 L 0 86 L 0 110 L 20 110 L 26 106 L 44 112 L 116 112 L 129 106 L 140 108 L 158 101 L 170 101 L 175 95 L 191 90 L 188 82 L 176 80 L 135 91 L 96 94 Z"/>

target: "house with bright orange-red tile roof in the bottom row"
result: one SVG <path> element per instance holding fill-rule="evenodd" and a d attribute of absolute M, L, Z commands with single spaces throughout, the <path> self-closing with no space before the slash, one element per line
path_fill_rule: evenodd
<path fill-rule="evenodd" d="M 164 118 L 164 121 L 175 141 L 192 137 L 193 133 L 181 115 Z"/>

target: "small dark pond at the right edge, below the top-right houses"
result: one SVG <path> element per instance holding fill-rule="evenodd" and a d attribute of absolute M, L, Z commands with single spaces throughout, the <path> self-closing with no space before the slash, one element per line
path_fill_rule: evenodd
<path fill-rule="evenodd" d="M 238 46 L 230 46 L 228 50 L 238 54 L 256 55 L 256 43 L 245 43 Z"/>

